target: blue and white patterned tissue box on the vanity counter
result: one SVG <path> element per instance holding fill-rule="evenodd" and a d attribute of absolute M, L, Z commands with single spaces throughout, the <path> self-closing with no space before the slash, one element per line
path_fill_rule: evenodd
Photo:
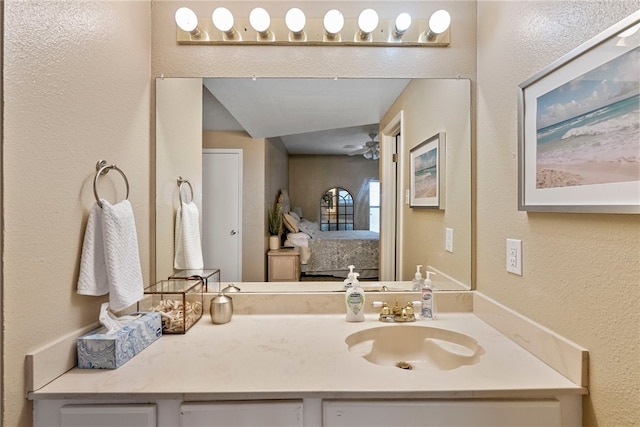
<path fill-rule="evenodd" d="M 78 368 L 116 369 L 162 335 L 160 313 L 145 313 L 113 334 L 101 327 L 78 338 Z"/>

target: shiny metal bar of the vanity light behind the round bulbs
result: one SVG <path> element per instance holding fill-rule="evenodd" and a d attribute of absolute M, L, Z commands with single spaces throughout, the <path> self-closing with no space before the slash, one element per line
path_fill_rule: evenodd
<path fill-rule="evenodd" d="M 189 32 L 176 26 L 178 44 L 190 45 L 300 45 L 300 46 L 387 46 L 387 47 L 446 47 L 450 43 L 451 29 L 430 35 L 429 19 L 414 19 L 411 26 L 402 34 L 396 31 L 396 18 L 380 19 L 377 27 L 366 38 L 358 37 L 361 30 L 358 19 L 344 20 L 344 26 L 335 37 L 327 37 L 323 18 L 307 18 L 304 24 L 304 37 L 292 36 L 284 18 L 271 18 L 269 37 L 261 37 L 254 30 L 248 17 L 235 17 L 236 37 L 228 37 L 211 22 L 211 17 L 198 19 L 198 26 L 208 37 L 197 39 Z"/>

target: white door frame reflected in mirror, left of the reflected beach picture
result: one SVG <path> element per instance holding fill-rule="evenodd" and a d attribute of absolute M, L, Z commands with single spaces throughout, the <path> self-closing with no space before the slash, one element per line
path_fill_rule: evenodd
<path fill-rule="evenodd" d="M 402 277 L 402 189 L 405 186 L 402 168 L 404 152 L 402 118 L 403 111 L 400 110 L 380 131 L 380 280 L 382 281 L 400 280 Z M 396 142 L 398 135 L 400 138 Z M 395 153 L 396 150 L 397 153 Z M 397 154 L 395 168 L 394 153 Z"/>

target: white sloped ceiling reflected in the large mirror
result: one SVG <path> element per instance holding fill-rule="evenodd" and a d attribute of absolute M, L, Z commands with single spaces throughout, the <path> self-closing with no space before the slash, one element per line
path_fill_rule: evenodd
<path fill-rule="evenodd" d="M 203 129 L 280 137 L 290 154 L 336 154 L 364 146 L 410 79 L 203 80 Z M 282 118 L 285 118 L 282 120 Z"/>

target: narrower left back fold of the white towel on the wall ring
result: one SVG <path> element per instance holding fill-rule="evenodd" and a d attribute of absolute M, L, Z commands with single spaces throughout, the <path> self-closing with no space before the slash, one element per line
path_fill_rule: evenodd
<path fill-rule="evenodd" d="M 109 279 L 107 278 L 104 241 L 102 239 L 102 209 L 96 203 L 89 213 L 87 228 L 84 232 L 78 293 L 80 295 L 105 295 L 108 292 Z"/>

